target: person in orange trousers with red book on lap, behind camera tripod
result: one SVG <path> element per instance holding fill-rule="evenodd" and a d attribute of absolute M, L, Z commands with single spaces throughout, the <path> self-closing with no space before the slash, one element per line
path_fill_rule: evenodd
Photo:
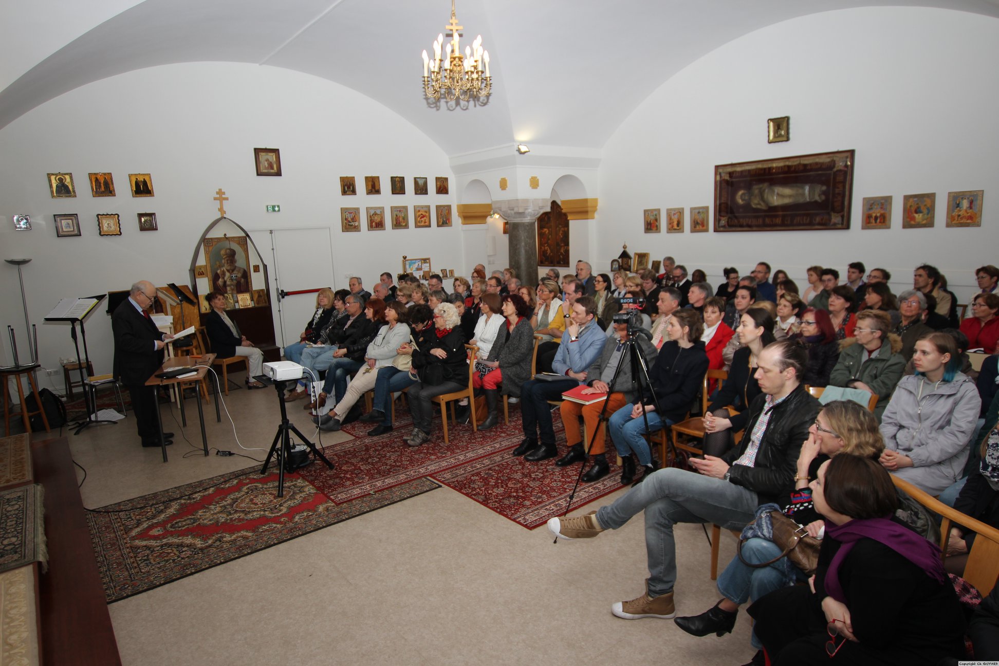
<path fill-rule="evenodd" d="M 631 362 L 627 354 L 627 347 L 624 341 L 627 340 L 627 324 L 612 324 L 610 327 L 613 335 L 606 338 L 600 355 L 586 370 L 586 388 L 584 393 L 607 393 L 610 391 L 610 381 L 614 378 L 616 383 L 613 391 L 609 392 L 603 399 L 583 405 L 572 400 L 562 400 L 559 405 L 562 424 L 565 427 L 565 441 L 568 443 L 568 452 L 555 461 L 555 465 L 564 467 L 573 462 L 585 461 L 586 454 L 592 456 L 592 465 L 579 477 L 583 483 L 590 483 L 603 478 L 610 471 L 607 457 L 604 451 L 604 428 L 601 426 L 599 417 L 601 412 L 604 417 L 609 418 L 617 409 L 627 403 L 634 401 L 637 393 L 636 378 L 631 375 Z M 644 335 L 635 337 L 638 351 L 645 359 L 645 364 L 652 367 L 658 350 Z M 618 370 L 620 367 L 620 370 Z M 586 433 L 589 441 L 583 441 L 582 431 L 579 428 L 579 418 L 586 424 Z M 590 443 L 592 442 L 592 443 Z M 588 449 L 588 450 L 587 450 Z M 625 470 L 628 468 L 625 463 Z M 630 465 L 631 475 L 634 475 L 634 463 Z M 623 479 L 623 475 L 622 475 Z M 622 483 L 625 481 L 621 481 Z M 630 482 L 628 479 L 626 482 Z"/>

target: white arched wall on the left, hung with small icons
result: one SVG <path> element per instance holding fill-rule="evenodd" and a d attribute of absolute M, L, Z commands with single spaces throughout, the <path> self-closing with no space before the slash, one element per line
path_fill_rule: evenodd
<path fill-rule="evenodd" d="M 420 103 L 419 97 L 415 103 Z M 430 111 L 428 111 L 430 113 Z M 258 177 L 255 147 L 281 150 L 284 176 Z M 415 204 L 455 204 L 434 192 L 434 178 L 454 178 L 448 157 L 409 122 L 370 98 L 298 72 L 229 63 L 196 63 L 131 72 L 67 93 L 0 130 L 0 259 L 30 257 L 24 268 L 29 312 L 39 325 L 44 366 L 58 368 L 72 343 L 65 325 L 42 326 L 62 298 L 128 289 L 137 280 L 188 283 L 195 245 L 219 216 L 247 229 L 332 227 L 337 288 L 344 276 L 366 286 L 399 272 L 403 255 L 431 257 L 435 269 L 466 267 L 458 216 L 446 229 L 413 229 Z M 70 172 L 78 195 L 51 199 L 46 173 Z M 117 197 L 95 199 L 89 172 L 110 171 Z M 155 197 L 134 199 L 129 173 L 150 173 Z M 359 194 L 341 197 L 339 177 L 353 175 Z M 364 176 L 382 178 L 382 196 L 366 196 Z M 407 178 L 406 196 L 389 194 L 389 177 Z M 431 195 L 413 194 L 413 177 Z M 281 205 L 268 214 L 265 206 Z M 340 208 L 409 205 L 407 231 L 342 234 Z M 136 213 L 157 214 L 159 231 L 140 233 Z M 11 216 L 29 214 L 34 229 L 14 232 Z M 82 238 L 56 238 L 53 214 L 76 213 Z M 121 237 L 100 237 L 95 215 L 118 213 Z M 266 252 L 266 247 L 260 248 Z M 265 258 L 268 261 L 268 258 Z M 272 271 L 273 280 L 273 271 Z M 24 329 L 17 272 L 0 264 L 0 324 Z M 4 354 L 9 358 L 6 328 Z M 110 318 L 87 322 L 95 370 L 111 370 Z M 23 333 L 19 334 L 19 339 Z M 23 356 L 27 347 L 21 346 Z M 48 383 L 44 373 L 43 383 Z M 62 372 L 52 377 L 61 383 Z M 50 384 L 51 385 L 51 384 Z"/>

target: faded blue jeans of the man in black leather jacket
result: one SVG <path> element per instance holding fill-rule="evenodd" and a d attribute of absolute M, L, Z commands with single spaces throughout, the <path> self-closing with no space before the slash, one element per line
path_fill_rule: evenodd
<path fill-rule="evenodd" d="M 722 529 L 742 529 L 756 516 L 756 493 L 720 478 L 667 467 L 596 510 L 601 527 L 617 529 L 645 512 L 648 594 L 672 592 L 676 582 L 677 522 L 713 522 Z"/>

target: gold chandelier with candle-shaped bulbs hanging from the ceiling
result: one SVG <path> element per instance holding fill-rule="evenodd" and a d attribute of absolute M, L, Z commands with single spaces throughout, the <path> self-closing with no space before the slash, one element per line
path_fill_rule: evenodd
<path fill-rule="evenodd" d="M 476 37 L 472 46 L 465 47 L 465 55 L 458 44 L 458 25 L 455 16 L 455 0 L 451 0 L 451 23 L 445 26 L 450 30 L 452 40 L 447 46 L 444 35 L 438 35 L 434 42 L 434 60 L 424 51 L 424 96 L 428 99 L 447 102 L 461 100 L 468 102 L 488 101 L 493 90 L 490 76 L 490 52 L 483 50 L 483 36 Z M 443 50 L 442 50 L 443 49 Z"/>

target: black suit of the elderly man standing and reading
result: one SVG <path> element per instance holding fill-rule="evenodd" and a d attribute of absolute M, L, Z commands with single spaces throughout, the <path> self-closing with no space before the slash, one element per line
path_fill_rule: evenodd
<path fill-rule="evenodd" d="M 146 380 L 163 364 L 164 352 L 157 350 L 154 342 L 163 339 L 163 333 L 152 320 L 147 320 L 132 302 L 126 299 L 111 316 L 111 330 L 115 338 L 115 378 L 129 390 L 132 409 L 135 411 L 139 436 L 144 444 L 159 444 L 156 397 L 146 386 Z"/>

